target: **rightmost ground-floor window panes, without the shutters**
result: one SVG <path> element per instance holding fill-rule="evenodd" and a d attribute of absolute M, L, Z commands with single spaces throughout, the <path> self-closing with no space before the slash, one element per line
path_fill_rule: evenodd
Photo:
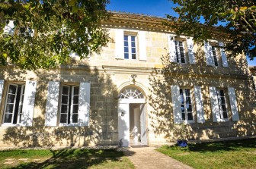
<path fill-rule="evenodd" d="M 228 110 L 226 108 L 226 98 L 223 89 L 217 90 L 218 105 L 219 105 L 219 118 L 228 119 Z"/>

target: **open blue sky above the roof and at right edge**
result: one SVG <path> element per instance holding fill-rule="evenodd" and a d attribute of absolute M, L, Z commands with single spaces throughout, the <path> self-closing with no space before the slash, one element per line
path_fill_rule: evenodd
<path fill-rule="evenodd" d="M 168 0 L 110 0 L 107 10 L 148 14 L 156 17 L 165 17 L 165 14 L 171 14 L 177 17 L 178 14 L 171 9 L 174 6 L 174 3 Z M 256 66 L 256 59 L 248 60 L 248 65 Z"/>

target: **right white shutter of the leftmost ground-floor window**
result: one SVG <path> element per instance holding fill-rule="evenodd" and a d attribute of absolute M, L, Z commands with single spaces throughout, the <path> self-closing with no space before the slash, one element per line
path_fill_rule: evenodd
<path fill-rule="evenodd" d="M 34 115 L 34 101 L 36 97 L 37 82 L 26 81 L 24 100 L 22 106 L 21 126 L 31 127 Z"/>

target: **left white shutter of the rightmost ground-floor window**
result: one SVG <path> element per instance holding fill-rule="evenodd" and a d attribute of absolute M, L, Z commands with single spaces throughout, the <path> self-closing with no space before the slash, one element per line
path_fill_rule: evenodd
<path fill-rule="evenodd" d="M 218 122 L 220 121 L 220 117 L 219 117 L 217 89 L 216 87 L 210 86 L 209 90 L 210 90 L 210 102 L 211 102 L 211 108 L 212 108 L 212 114 L 213 114 L 213 122 Z"/>

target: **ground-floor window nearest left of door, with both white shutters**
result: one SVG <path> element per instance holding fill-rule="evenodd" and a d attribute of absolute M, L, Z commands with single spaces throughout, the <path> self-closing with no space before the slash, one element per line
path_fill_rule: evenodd
<path fill-rule="evenodd" d="M 48 82 L 46 127 L 89 126 L 91 83 Z"/>

